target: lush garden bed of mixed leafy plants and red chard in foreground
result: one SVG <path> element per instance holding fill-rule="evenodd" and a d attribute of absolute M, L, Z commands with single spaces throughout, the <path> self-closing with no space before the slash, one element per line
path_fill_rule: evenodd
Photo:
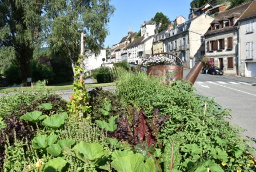
<path fill-rule="evenodd" d="M 255 171 L 230 112 L 193 90 L 123 71 L 116 93 L 2 97 L 0 171 Z"/>

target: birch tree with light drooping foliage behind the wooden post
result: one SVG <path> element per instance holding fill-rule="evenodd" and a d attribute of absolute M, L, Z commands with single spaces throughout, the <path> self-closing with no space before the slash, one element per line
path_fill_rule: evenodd
<path fill-rule="evenodd" d="M 73 73 L 79 50 L 81 33 L 85 33 L 85 51 L 99 54 L 106 35 L 107 23 L 114 13 L 109 0 L 49 1 L 46 5 L 48 43 L 51 49 L 65 47 Z"/>

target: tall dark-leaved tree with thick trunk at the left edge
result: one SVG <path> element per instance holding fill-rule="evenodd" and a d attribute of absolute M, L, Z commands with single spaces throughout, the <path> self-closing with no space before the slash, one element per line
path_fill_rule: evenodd
<path fill-rule="evenodd" d="M 0 1 L 0 54 L 13 52 L 23 83 L 30 77 L 30 61 L 38 46 L 42 6 L 43 0 Z"/>

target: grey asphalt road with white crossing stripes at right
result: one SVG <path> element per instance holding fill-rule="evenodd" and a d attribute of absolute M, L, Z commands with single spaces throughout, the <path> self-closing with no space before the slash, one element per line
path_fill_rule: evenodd
<path fill-rule="evenodd" d="M 185 70 L 184 76 L 188 72 Z M 230 123 L 245 129 L 244 137 L 256 138 L 256 78 L 199 74 L 194 87 L 196 93 L 214 97 L 230 109 Z"/>

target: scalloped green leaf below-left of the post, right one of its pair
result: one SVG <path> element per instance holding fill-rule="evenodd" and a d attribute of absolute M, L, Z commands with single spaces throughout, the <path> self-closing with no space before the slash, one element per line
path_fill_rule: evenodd
<path fill-rule="evenodd" d="M 60 115 L 53 115 L 43 120 L 42 125 L 52 129 L 58 129 L 64 123 L 65 121 Z"/>

